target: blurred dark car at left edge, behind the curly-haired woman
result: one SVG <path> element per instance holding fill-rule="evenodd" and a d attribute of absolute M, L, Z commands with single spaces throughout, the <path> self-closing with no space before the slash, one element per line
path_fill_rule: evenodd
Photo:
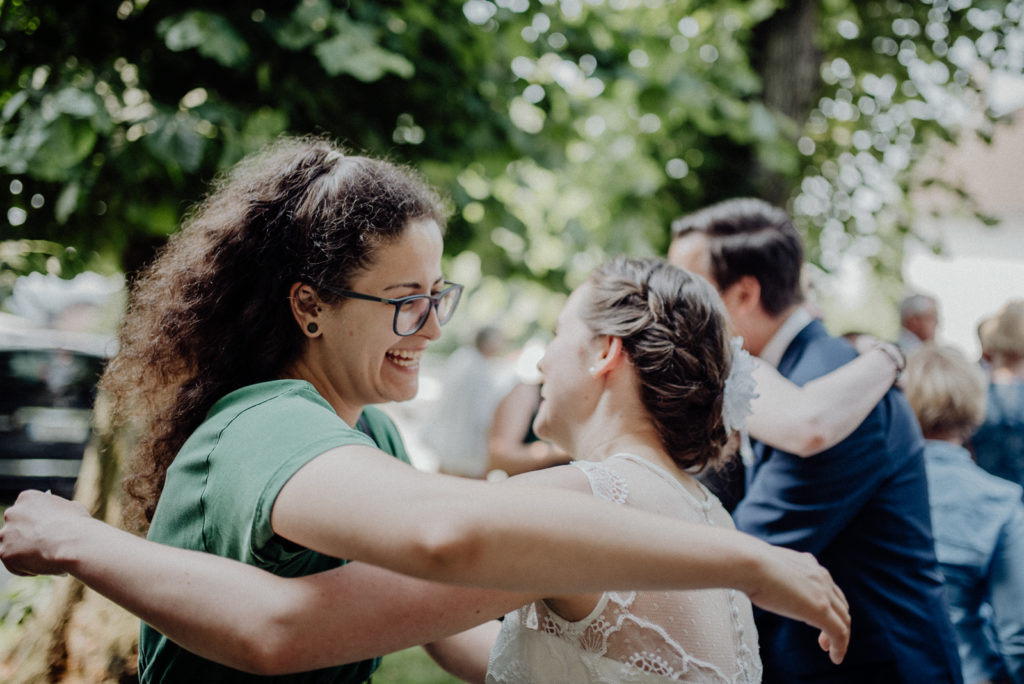
<path fill-rule="evenodd" d="M 92 435 L 96 381 L 109 338 L 53 330 L 0 330 L 0 493 L 52 489 L 71 497 Z"/>

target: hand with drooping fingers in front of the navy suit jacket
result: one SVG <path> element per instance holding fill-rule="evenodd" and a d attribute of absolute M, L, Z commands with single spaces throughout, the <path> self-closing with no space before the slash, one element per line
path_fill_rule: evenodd
<path fill-rule="evenodd" d="M 843 591 L 811 554 L 768 546 L 762 584 L 746 592 L 751 602 L 821 630 L 821 649 L 842 662 L 850 645 L 850 604 Z"/>

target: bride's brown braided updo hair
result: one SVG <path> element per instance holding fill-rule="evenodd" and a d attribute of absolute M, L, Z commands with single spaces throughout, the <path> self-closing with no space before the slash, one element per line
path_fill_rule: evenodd
<path fill-rule="evenodd" d="M 590 285 L 583 320 L 622 339 L 669 456 L 685 469 L 717 465 L 729 438 L 722 400 L 732 360 L 718 293 L 652 258 L 616 257 L 594 270 Z"/>

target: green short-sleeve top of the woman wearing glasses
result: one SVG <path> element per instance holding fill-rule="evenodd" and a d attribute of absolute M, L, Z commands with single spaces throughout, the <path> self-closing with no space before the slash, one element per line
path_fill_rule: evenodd
<path fill-rule="evenodd" d="M 299 468 L 336 446 L 377 446 L 409 462 L 394 424 L 367 409 L 349 427 L 312 385 L 276 380 L 223 397 L 167 471 L 148 539 L 241 560 L 283 576 L 300 576 L 345 561 L 273 533 L 270 511 Z M 282 677 L 257 677 L 184 650 L 143 625 L 142 682 L 364 682 L 380 658 Z"/>

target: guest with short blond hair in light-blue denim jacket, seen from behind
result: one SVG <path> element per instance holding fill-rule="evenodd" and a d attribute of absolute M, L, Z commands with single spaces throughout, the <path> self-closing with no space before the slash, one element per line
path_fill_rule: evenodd
<path fill-rule="evenodd" d="M 958 351 L 928 345 L 907 361 L 906 394 L 927 440 L 935 554 L 964 681 L 1024 684 L 1021 487 L 986 473 L 964 448 L 985 415 L 984 378 Z"/>

